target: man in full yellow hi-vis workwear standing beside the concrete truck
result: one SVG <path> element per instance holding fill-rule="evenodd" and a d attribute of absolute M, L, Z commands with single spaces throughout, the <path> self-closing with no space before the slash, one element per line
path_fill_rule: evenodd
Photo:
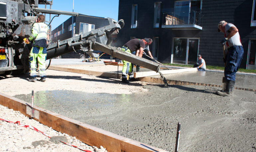
<path fill-rule="evenodd" d="M 31 41 L 32 49 L 29 54 L 29 67 L 30 67 L 30 78 L 29 82 L 36 81 L 36 58 L 39 63 L 39 73 L 40 73 L 40 81 L 46 81 L 46 47 L 47 47 L 47 32 L 48 27 L 44 23 L 45 16 L 39 15 L 36 22 L 33 24 L 33 28 L 31 30 L 31 35 L 29 39 L 26 40 L 26 43 Z"/>

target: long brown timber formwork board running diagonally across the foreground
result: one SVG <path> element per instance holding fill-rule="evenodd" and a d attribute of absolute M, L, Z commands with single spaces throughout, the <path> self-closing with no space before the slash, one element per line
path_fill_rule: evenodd
<path fill-rule="evenodd" d="M 26 106 L 30 103 L 0 93 L 0 104 L 30 117 L 26 114 Z M 34 106 L 34 109 L 39 111 L 39 120 L 37 121 L 40 123 L 52 127 L 56 131 L 75 136 L 85 144 L 97 147 L 103 146 L 109 152 L 164 152 L 162 149 L 104 131 L 41 107 Z"/>

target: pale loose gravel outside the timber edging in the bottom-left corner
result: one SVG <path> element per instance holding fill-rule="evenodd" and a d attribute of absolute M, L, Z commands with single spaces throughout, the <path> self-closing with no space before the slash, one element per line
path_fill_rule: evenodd
<path fill-rule="evenodd" d="M 20 121 L 20 124 L 22 125 L 31 125 L 51 137 L 49 138 L 42 133 L 38 133 L 29 128 L 18 126 L 17 124 L 0 121 L 0 151 L 81 151 L 78 148 L 71 147 L 59 141 L 61 140 L 85 150 L 90 150 L 93 152 L 106 152 L 105 148 L 102 146 L 100 148 L 88 146 L 85 143 L 77 140 L 75 137 L 69 136 L 65 133 L 57 132 L 52 128 L 40 124 L 38 121 L 29 119 L 19 111 L 8 109 L 2 105 L 0 105 L 0 118 L 12 122 Z"/>

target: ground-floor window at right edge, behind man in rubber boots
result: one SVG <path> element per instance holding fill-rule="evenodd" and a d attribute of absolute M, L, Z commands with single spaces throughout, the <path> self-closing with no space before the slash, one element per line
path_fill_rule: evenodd
<path fill-rule="evenodd" d="M 256 39 L 250 39 L 250 45 L 248 50 L 247 69 L 255 70 L 255 57 L 256 57 Z"/>

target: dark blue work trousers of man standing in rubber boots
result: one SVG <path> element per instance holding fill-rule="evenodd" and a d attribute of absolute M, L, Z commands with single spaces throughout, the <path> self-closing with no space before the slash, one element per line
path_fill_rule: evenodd
<path fill-rule="evenodd" d="M 236 72 L 239 69 L 244 49 L 242 46 L 232 46 L 228 49 L 226 67 L 224 75 L 227 80 L 235 81 Z"/>

